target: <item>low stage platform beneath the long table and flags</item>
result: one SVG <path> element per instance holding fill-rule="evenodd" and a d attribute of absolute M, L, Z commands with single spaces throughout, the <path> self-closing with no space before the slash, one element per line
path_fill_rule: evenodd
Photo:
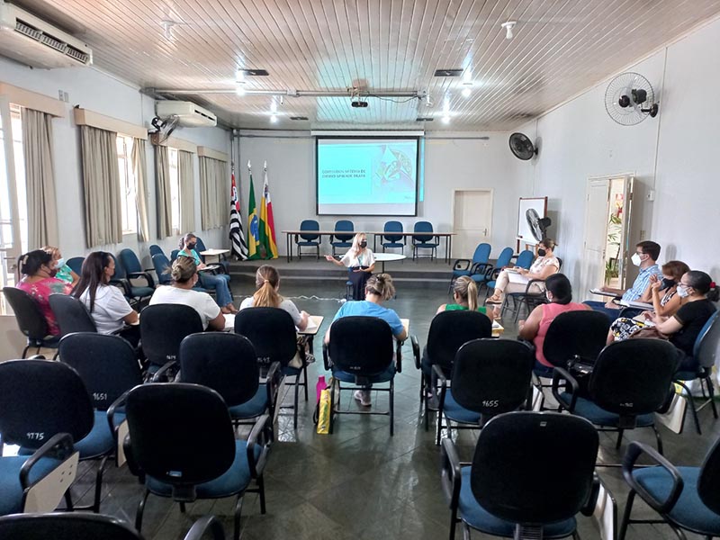
<path fill-rule="evenodd" d="M 344 286 L 347 281 L 347 271 L 334 266 L 325 258 L 317 260 L 315 257 L 297 258 L 288 263 L 285 257 L 273 260 L 230 261 L 229 273 L 233 283 L 254 284 L 257 268 L 262 265 L 272 265 L 280 273 L 280 279 L 287 284 L 329 284 L 332 287 Z M 382 264 L 375 264 L 374 274 L 381 272 Z M 392 281 L 399 288 L 414 289 L 447 289 L 452 275 L 451 266 L 443 259 L 430 261 L 423 258 L 413 261 L 406 258 L 402 261 L 385 263 L 385 272 L 392 275 Z"/>

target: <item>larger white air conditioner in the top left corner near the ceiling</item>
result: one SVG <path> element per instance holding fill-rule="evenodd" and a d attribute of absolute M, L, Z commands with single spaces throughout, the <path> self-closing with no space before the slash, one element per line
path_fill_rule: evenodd
<path fill-rule="evenodd" d="M 93 63 L 93 51 L 81 40 L 3 0 L 0 0 L 0 56 L 44 69 Z"/>

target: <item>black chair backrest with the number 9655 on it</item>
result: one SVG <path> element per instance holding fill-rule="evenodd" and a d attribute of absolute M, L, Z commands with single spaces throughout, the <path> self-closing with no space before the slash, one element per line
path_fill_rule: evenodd
<path fill-rule="evenodd" d="M 473 339 L 458 349 L 453 397 L 465 409 L 491 417 L 527 401 L 535 365 L 533 350 L 510 339 Z"/>

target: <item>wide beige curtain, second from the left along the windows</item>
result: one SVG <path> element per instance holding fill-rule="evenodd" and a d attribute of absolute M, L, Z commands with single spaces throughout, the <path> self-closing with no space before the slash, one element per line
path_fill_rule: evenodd
<path fill-rule="evenodd" d="M 117 133 L 80 126 L 87 247 L 122 241 Z"/>

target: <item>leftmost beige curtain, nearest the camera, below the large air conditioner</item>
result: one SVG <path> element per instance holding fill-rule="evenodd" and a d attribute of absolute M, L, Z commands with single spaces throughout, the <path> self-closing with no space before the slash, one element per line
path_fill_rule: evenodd
<path fill-rule="evenodd" d="M 23 155 L 31 249 L 58 245 L 58 207 L 52 172 L 52 116 L 23 108 Z"/>

